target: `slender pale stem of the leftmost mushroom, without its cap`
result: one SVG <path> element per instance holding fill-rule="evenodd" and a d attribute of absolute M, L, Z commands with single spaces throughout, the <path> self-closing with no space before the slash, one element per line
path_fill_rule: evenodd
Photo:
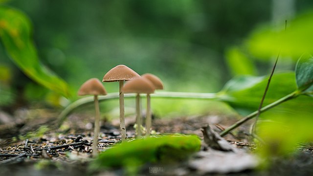
<path fill-rule="evenodd" d="M 95 107 L 95 120 L 94 120 L 94 134 L 93 134 L 93 145 L 92 145 L 92 156 L 98 155 L 98 135 L 100 131 L 100 110 L 98 96 L 94 95 L 94 107 Z"/>

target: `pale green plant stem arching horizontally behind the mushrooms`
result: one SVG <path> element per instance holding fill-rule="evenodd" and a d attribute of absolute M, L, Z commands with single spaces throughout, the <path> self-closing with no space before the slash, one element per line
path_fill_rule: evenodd
<path fill-rule="evenodd" d="M 123 94 L 125 98 L 132 98 L 135 97 L 135 93 L 127 93 Z M 146 96 L 145 94 L 141 94 L 140 96 Z M 209 100 L 216 100 L 218 96 L 216 93 L 192 93 L 192 92 L 170 92 L 170 91 L 162 91 L 156 92 L 151 95 L 152 97 L 159 97 L 159 98 L 184 98 L 184 99 L 209 99 Z M 119 93 L 108 93 L 105 96 L 98 96 L 99 102 L 117 99 L 119 98 Z M 81 106 L 85 106 L 88 104 L 93 103 L 93 97 L 84 97 L 76 100 L 75 102 L 69 104 L 58 116 L 58 127 L 62 125 L 62 123 L 66 120 L 67 115 L 70 114 L 72 111 L 78 109 Z"/>

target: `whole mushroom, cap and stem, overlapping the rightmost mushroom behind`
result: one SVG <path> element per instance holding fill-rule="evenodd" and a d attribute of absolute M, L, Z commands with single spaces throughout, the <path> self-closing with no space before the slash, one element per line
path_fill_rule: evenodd
<path fill-rule="evenodd" d="M 146 78 L 136 78 L 127 82 L 123 88 L 124 93 L 137 93 L 136 95 L 136 123 L 137 138 L 141 138 L 141 114 L 140 114 L 140 93 L 153 93 L 155 86 Z"/>

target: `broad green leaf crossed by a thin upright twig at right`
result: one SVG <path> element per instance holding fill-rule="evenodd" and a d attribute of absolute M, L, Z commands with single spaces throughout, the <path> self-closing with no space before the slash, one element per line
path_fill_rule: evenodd
<path fill-rule="evenodd" d="M 252 112 L 258 109 L 269 76 L 240 76 L 230 80 L 218 93 L 219 98 L 235 109 Z M 294 72 L 276 73 L 273 75 L 264 106 L 290 94 L 297 89 Z M 295 102 L 294 106 L 308 103 Z M 294 108 L 294 107 L 293 107 Z"/>

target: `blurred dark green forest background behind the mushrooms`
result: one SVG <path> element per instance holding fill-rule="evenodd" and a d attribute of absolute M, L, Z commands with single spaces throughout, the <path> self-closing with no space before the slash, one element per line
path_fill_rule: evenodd
<path fill-rule="evenodd" d="M 275 43 L 271 52 L 265 52 L 269 49 L 264 51 L 264 45 L 258 47 L 253 43 L 262 34 L 258 31 L 268 28 L 281 31 L 285 20 L 292 21 L 313 7 L 312 0 L 0 0 L 0 3 L 28 16 L 40 62 L 67 82 L 71 94 L 65 99 L 27 78 L 9 59 L 1 41 L 0 90 L 7 95 L 7 100 L 2 99 L 2 108 L 6 110 L 33 104 L 66 106 L 78 98 L 76 91 L 82 83 L 92 77 L 101 80 L 119 64 L 138 74 L 157 75 L 166 91 L 217 92 L 233 76 L 268 74 L 278 45 L 284 41 Z M 261 35 L 262 39 L 264 36 L 268 35 Z M 270 43 L 265 45 L 269 47 Z M 293 70 L 301 56 L 295 52 L 282 55 L 285 59 L 280 60 L 278 70 Z M 104 85 L 108 92 L 118 91 L 117 83 Z M 175 106 L 197 109 L 198 105 L 191 101 Z"/>

